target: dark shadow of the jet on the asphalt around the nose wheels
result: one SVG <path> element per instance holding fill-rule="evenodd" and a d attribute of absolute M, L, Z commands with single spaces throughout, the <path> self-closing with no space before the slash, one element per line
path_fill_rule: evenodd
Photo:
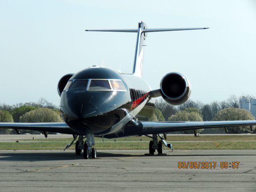
<path fill-rule="evenodd" d="M 139 157 L 141 155 L 132 154 L 113 154 L 107 152 L 97 152 L 97 158 L 122 158 Z M 0 153 L 1 161 L 59 161 L 59 160 L 83 160 L 83 154 L 76 155 L 70 152 L 10 152 Z"/>

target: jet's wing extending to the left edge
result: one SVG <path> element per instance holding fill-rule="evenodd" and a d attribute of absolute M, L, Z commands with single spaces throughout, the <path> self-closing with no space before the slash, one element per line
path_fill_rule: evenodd
<path fill-rule="evenodd" d="M 29 129 L 46 132 L 78 134 L 72 130 L 65 122 L 52 123 L 0 123 L 0 128 L 6 129 Z"/>

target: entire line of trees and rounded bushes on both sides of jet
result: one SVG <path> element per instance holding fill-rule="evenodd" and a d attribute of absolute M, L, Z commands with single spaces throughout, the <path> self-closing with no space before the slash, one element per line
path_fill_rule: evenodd
<path fill-rule="evenodd" d="M 200 101 L 188 100 L 180 106 L 173 106 L 162 98 L 156 100 L 151 121 L 223 121 L 223 120 L 254 120 L 254 116 L 238 108 L 239 101 L 235 95 L 222 102 L 214 101 L 203 104 Z M 12 106 L 0 104 L 0 122 L 62 122 L 57 106 L 40 98 L 38 102 L 18 103 Z M 203 129 L 202 129 L 203 130 Z M 201 132 L 202 130 L 198 130 Z M 38 131 L 22 130 L 33 134 Z M 251 132 L 248 127 L 228 128 L 229 133 Z M 0 134 L 15 133 L 12 129 L 0 129 Z M 184 131 L 192 134 L 193 130 Z"/>

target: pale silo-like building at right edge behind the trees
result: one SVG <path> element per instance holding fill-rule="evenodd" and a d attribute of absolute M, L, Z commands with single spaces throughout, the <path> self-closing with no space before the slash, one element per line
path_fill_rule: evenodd
<path fill-rule="evenodd" d="M 250 111 L 256 117 L 256 97 L 241 95 L 239 97 L 239 108 Z"/>

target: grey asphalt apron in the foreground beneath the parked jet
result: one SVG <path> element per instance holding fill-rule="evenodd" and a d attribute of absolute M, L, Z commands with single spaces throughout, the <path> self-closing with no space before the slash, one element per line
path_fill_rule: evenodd
<path fill-rule="evenodd" d="M 74 150 L 0 150 L 0 191 L 255 192 L 256 150 L 98 150 L 85 160 Z M 216 162 L 178 168 L 178 162 Z M 220 168 L 221 162 L 240 162 Z"/>

